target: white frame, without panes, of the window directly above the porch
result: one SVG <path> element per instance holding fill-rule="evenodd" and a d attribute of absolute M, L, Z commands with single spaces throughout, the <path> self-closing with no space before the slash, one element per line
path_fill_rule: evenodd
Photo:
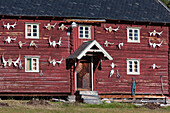
<path fill-rule="evenodd" d="M 83 37 L 80 37 L 80 27 L 83 27 Z M 85 37 L 85 28 L 88 27 L 88 38 Z M 79 39 L 91 39 L 91 26 L 90 25 L 79 25 L 78 28 L 78 35 L 79 35 Z"/>

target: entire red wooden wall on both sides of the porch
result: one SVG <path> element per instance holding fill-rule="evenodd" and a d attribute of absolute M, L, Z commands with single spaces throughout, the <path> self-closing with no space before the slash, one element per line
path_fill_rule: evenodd
<path fill-rule="evenodd" d="M 13 24 L 17 22 L 16 28 L 7 30 L 3 29 L 2 23 Z M 25 39 L 25 22 L 40 23 L 39 35 L 40 39 Z M 57 22 L 56 28 L 50 31 L 44 29 L 44 24 L 54 24 Z M 74 83 L 70 80 L 70 70 L 66 69 L 65 59 L 73 53 L 76 48 L 81 45 L 84 40 L 78 40 L 78 28 L 73 28 L 71 36 L 67 36 L 66 30 L 59 30 L 58 25 L 63 21 L 52 20 L 16 20 L 16 19 L 1 19 L 0 20 L 0 55 L 4 53 L 5 60 L 12 58 L 16 60 L 18 55 L 21 55 L 22 66 L 25 67 L 25 55 L 37 55 L 40 56 L 40 70 L 43 72 L 43 76 L 40 76 L 40 72 L 29 73 L 25 70 L 19 70 L 18 68 L 6 67 L 0 64 L 0 93 L 70 93 L 73 88 L 71 86 Z M 117 32 L 107 32 L 104 30 L 104 25 L 113 26 L 117 28 L 120 26 Z M 127 42 L 127 27 L 141 27 L 140 29 L 140 43 Z M 156 30 L 158 32 L 163 31 L 162 36 L 157 38 L 156 36 L 149 36 L 148 32 Z M 95 74 L 95 90 L 100 94 L 108 93 L 131 93 L 132 77 L 135 77 L 136 93 L 137 94 L 161 94 L 161 80 L 160 76 L 163 76 L 164 94 L 168 94 L 168 52 L 169 52 L 169 29 L 168 27 L 161 26 L 146 26 L 146 25 L 131 25 L 131 24 L 117 24 L 114 23 L 102 23 L 100 25 L 92 24 L 92 36 L 97 40 L 103 48 L 113 57 L 113 61 L 103 61 L 102 70 L 97 70 Z M 3 42 L 4 38 L 8 36 L 15 37 L 17 40 L 14 43 Z M 51 36 L 51 41 L 58 41 L 62 37 L 62 45 L 59 48 L 49 47 L 48 38 Z M 149 47 L 149 38 L 152 42 L 159 43 L 164 40 L 162 47 L 152 48 Z M 34 40 L 38 48 L 29 46 L 31 40 Z M 104 42 L 109 41 L 114 45 L 105 47 Z M 18 42 L 27 42 L 22 49 L 19 49 Z M 118 49 L 116 45 L 119 42 L 123 42 L 122 49 Z M 61 65 L 52 64 L 49 65 L 48 58 L 60 60 L 62 57 L 64 61 Z M 140 61 L 140 75 L 127 75 L 127 58 L 141 59 Z M 115 74 L 109 78 L 109 72 L 111 70 L 110 64 L 114 62 L 117 67 L 114 68 Z M 153 70 L 152 64 L 161 66 L 159 69 Z M 119 70 L 121 78 L 116 78 L 116 70 Z M 71 74 L 71 76 L 73 76 Z M 71 83 L 72 82 L 72 83 Z"/>

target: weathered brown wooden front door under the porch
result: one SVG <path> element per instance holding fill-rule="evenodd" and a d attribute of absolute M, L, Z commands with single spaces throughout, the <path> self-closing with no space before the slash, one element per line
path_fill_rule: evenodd
<path fill-rule="evenodd" d="M 76 71 L 77 90 L 92 90 L 91 62 L 81 60 Z"/>

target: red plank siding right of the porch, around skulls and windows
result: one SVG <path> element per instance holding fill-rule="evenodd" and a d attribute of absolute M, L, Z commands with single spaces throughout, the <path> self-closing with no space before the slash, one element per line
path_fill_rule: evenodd
<path fill-rule="evenodd" d="M 117 32 L 107 32 L 105 26 L 117 28 Z M 140 43 L 127 42 L 127 27 L 140 27 Z M 148 32 L 156 30 L 163 31 L 162 35 L 149 36 Z M 146 25 L 130 25 L 130 24 L 112 24 L 103 23 L 101 26 L 95 26 L 95 39 L 104 47 L 104 49 L 113 57 L 113 61 L 103 61 L 102 70 L 96 71 L 96 90 L 99 94 L 129 93 L 132 90 L 132 77 L 135 77 L 136 94 L 162 94 L 161 80 L 163 79 L 164 94 L 169 94 L 168 84 L 168 51 L 169 51 L 169 30 L 168 27 L 146 26 Z M 160 48 L 149 47 L 149 38 L 151 42 L 160 43 L 164 40 Z M 105 47 L 104 42 L 109 41 L 114 45 Z M 123 42 L 122 49 L 118 49 L 116 45 Z M 140 75 L 127 75 L 126 59 L 140 59 Z M 117 66 L 114 68 L 114 75 L 109 78 L 111 70 L 110 64 L 114 62 Z M 153 70 L 152 64 L 161 66 L 159 69 Z M 121 75 L 116 77 L 116 70 Z"/>

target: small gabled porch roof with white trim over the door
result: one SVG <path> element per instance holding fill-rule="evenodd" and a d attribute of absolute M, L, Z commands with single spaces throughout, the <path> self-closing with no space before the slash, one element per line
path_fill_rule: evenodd
<path fill-rule="evenodd" d="M 93 48 L 93 47 L 97 48 Z M 80 60 L 83 56 L 86 56 L 87 52 L 92 53 L 103 53 L 104 57 L 108 60 L 113 60 L 113 58 L 109 55 L 109 53 L 106 52 L 106 50 L 96 41 L 87 41 L 83 42 L 83 44 L 74 52 L 72 53 L 67 59 L 78 59 Z"/>

